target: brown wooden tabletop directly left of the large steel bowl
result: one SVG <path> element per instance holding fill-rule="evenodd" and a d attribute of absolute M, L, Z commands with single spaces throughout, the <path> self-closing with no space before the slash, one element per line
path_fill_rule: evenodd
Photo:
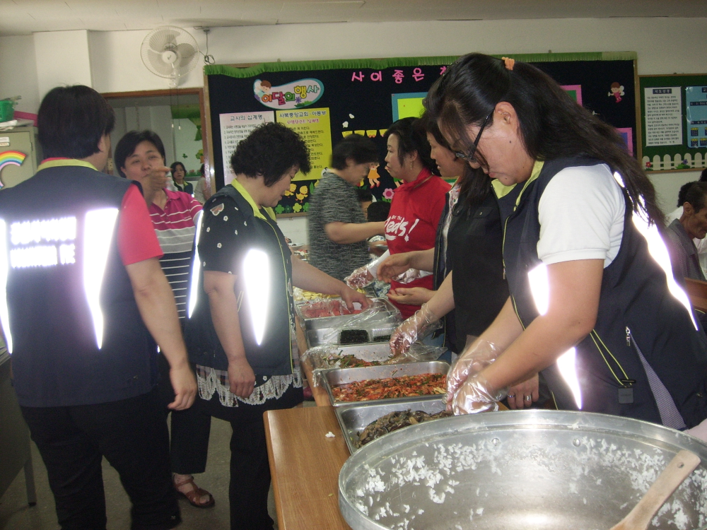
<path fill-rule="evenodd" d="M 267 411 L 264 420 L 278 528 L 350 530 L 339 513 L 339 471 L 349 449 L 334 407 Z"/>

